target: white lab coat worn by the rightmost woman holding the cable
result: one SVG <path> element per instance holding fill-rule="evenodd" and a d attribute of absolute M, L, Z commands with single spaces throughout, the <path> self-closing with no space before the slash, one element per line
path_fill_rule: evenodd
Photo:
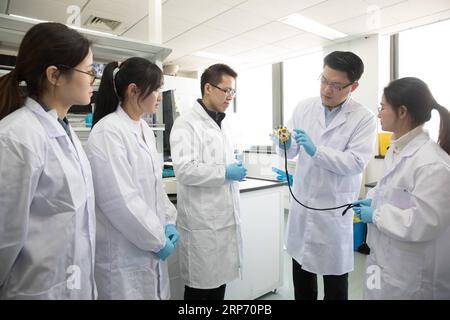
<path fill-rule="evenodd" d="M 450 299 L 450 156 L 421 132 L 392 159 L 368 194 L 364 298 Z"/>

